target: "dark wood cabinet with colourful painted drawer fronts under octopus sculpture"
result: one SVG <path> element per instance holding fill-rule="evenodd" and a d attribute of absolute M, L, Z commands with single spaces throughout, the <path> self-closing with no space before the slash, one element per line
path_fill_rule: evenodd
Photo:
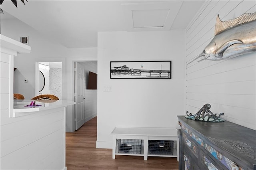
<path fill-rule="evenodd" d="M 180 170 L 256 170 L 256 131 L 178 116 Z"/>

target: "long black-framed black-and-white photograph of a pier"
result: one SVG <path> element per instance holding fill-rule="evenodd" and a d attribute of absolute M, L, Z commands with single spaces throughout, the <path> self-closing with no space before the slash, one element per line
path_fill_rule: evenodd
<path fill-rule="evenodd" d="M 110 79 L 171 79 L 172 61 L 110 61 Z"/>

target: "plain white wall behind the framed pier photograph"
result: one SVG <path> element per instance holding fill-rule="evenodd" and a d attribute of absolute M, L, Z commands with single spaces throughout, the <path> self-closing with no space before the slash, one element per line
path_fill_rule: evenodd
<path fill-rule="evenodd" d="M 98 33 L 97 148 L 114 127 L 177 127 L 185 113 L 185 32 Z M 172 61 L 172 79 L 110 79 L 110 61 Z M 104 92 L 111 86 L 111 92 Z"/>

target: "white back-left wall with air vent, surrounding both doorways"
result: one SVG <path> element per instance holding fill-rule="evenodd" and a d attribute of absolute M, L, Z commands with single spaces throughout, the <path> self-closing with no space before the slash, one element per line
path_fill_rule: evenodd
<path fill-rule="evenodd" d="M 73 100 L 73 61 L 97 61 L 97 47 L 68 49 L 18 19 L 1 20 L 1 34 L 16 41 L 22 36 L 29 37 L 31 53 L 14 58 L 14 67 L 17 68 L 14 82 L 18 84 L 15 93 L 24 95 L 25 99 L 35 96 L 36 62 L 62 62 L 62 99 Z M 28 79 L 28 83 L 24 83 L 24 79 Z M 66 108 L 67 132 L 74 131 L 73 107 Z"/>

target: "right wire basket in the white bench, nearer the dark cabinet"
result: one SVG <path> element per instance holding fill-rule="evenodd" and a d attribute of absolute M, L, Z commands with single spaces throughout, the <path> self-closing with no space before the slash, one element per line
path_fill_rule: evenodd
<path fill-rule="evenodd" d="M 149 154 L 172 155 L 174 148 L 173 140 L 148 140 Z"/>

